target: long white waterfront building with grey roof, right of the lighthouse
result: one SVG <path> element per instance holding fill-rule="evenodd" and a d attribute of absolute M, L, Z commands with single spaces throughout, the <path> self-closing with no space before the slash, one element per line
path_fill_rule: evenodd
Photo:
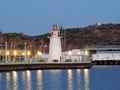
<path fill-rule="evenodd" d="M 89 57 L 92 61 L 120 60 L 120 46 L 118 45 L 89 46 L 86 50 L 90 52 Z"/>

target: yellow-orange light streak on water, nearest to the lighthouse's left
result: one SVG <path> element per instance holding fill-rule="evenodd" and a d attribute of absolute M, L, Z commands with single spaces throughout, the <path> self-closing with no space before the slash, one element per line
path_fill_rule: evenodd
<path fill-rule="evenodd" d="M 43 90 L 42 70 L 37 70 L 37 90 Z"/>

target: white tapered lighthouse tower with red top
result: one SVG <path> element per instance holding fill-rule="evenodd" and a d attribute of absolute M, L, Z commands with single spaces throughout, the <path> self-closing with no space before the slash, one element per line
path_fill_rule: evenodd
<path fill-rule="evenodd" d="M 57 24 L 54 24 L 53 31 L 50 37 L 48 62 L 61 61 L 62 51 L 60 39 L 61 37 L 60 32 L 57 30 Z"/>

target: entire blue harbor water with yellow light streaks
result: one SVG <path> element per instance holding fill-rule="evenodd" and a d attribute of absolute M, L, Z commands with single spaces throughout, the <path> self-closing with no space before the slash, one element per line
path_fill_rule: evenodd
<path fill-rule="evenodd" d="M 119 90 L 120 66 L 0 72 L 0 90 Z"/>

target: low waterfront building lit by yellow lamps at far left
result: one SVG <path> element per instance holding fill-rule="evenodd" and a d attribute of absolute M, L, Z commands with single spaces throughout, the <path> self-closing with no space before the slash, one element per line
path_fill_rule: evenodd
<path fill-rule="evenodd" d="M 29 62 L 30 51 L 29 50 L 0 50 L 0 62 Z"/>

